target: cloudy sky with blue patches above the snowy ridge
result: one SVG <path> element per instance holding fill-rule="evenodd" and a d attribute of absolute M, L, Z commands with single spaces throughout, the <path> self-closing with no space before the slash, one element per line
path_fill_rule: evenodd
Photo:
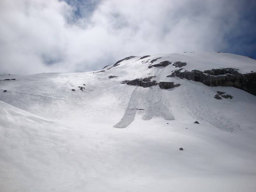
<path fill-rule="evenodd" d="M 134 55 L 256 59 L 254 0 L 1 0 L 0 73 L 87 72 Z"/>

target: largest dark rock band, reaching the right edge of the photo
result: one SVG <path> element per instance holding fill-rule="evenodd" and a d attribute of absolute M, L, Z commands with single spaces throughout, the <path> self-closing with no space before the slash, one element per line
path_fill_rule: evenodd
<path fill-rule="evenodd" d="M 207 86 L 230 86 L 242 89 L 253 95 L 256 95 L 256 72 L 241 74 L 235 68 L 218 68 L 210 70 L 192 70 L 181 72 L 175 70 L 172 75 L 167 77 L 177 76 L 180 79 L 188 79 L 196 82 L 201 82 Z"/>

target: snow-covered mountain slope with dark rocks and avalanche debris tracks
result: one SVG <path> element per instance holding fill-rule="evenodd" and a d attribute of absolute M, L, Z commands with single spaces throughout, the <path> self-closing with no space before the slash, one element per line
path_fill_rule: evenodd
<path fill-rule="evenodd" d="M 222 52 L 2 74 L 0 191 L 255 191 L 255 76 Z"/>

